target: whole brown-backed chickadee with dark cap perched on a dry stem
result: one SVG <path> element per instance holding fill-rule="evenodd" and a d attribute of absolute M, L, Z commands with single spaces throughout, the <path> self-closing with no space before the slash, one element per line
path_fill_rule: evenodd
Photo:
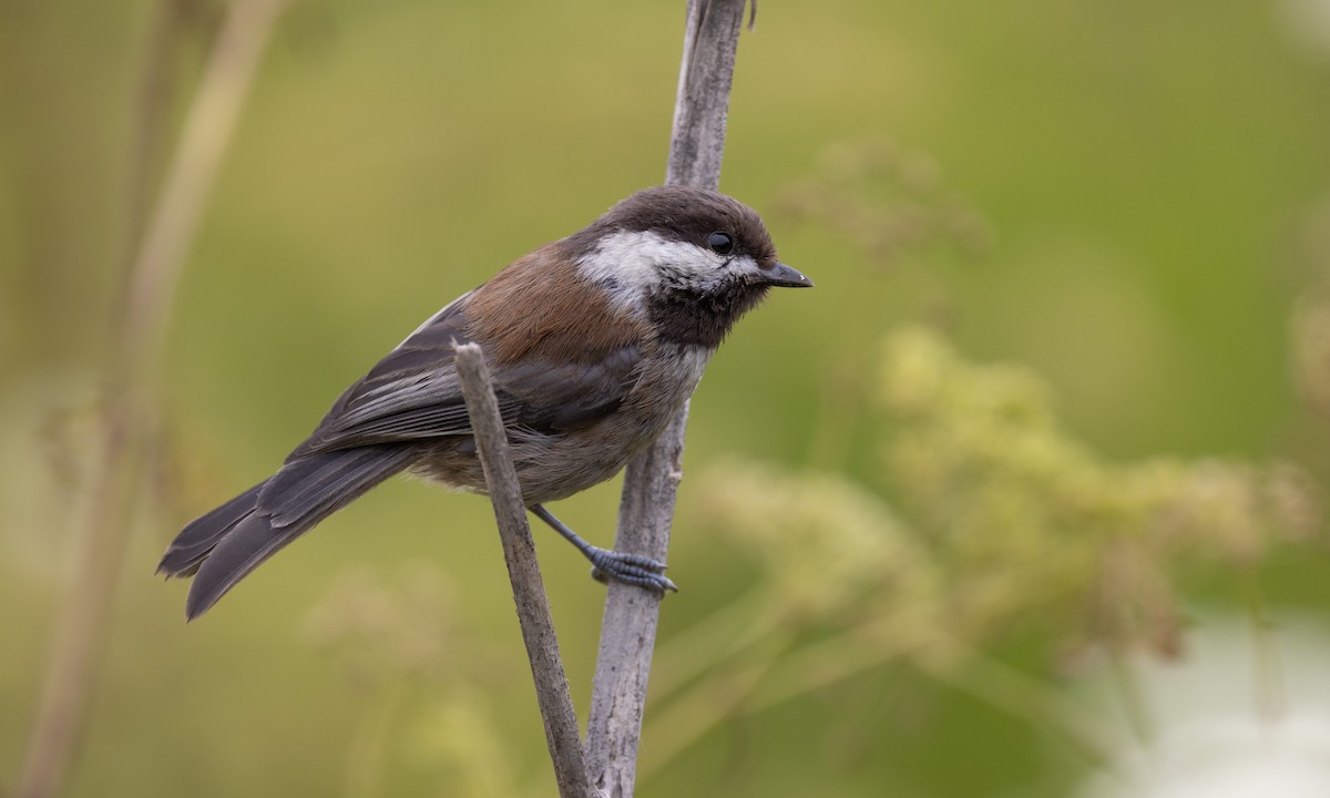
<path fill-rule="evenodd" d="M 193 576 L 193 620 L 278 549 L 407 471 L 485 492 L 454 347 L 479 343 L 527 507 L 602 577 L 674 589 L 665 565 L 593 547 L 545 509 L 617 473 L 693 394 L 781 263 L 762 219 L 724 194 L 645 189 L 463 294 L 347 388 L 277 473 L 193 520 L 158 573 Z"/>

